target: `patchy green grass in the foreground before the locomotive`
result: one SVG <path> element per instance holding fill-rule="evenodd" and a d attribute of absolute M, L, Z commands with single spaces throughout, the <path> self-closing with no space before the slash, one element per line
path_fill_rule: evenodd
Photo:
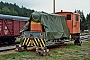
<path fill-rule="evenodd" d="M 0 60 L 90 60 L 90 40 L 83 41 L 82 46 L 68 42 L 50 48 L 50 56 L 36 56 L 35 51 L 24 51 L 0 55 Z"/>

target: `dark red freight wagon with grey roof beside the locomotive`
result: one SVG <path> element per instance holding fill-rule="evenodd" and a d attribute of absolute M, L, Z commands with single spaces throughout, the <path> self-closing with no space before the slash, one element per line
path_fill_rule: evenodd
<path fill-rule="evenodd" d="M 0 43 L 12 43 L 29 20 L 27 17 L 0 14 Z"/>

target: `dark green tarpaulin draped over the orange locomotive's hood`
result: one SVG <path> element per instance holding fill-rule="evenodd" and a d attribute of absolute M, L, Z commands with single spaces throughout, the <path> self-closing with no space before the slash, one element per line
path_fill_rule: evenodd
<path fill-rule="evenodd" d="M 30 16 L 29 21 L 30 20 L 40 22 L 44 26 L 46 39 L 55 39 L 70 36 L 65 18 L 63 16 L 60 16 L 58 14 L 48 14 L 45 12 L 33 12 Z M 29 21 L 20 32 L 23 32 L 29 28 Z"/>

